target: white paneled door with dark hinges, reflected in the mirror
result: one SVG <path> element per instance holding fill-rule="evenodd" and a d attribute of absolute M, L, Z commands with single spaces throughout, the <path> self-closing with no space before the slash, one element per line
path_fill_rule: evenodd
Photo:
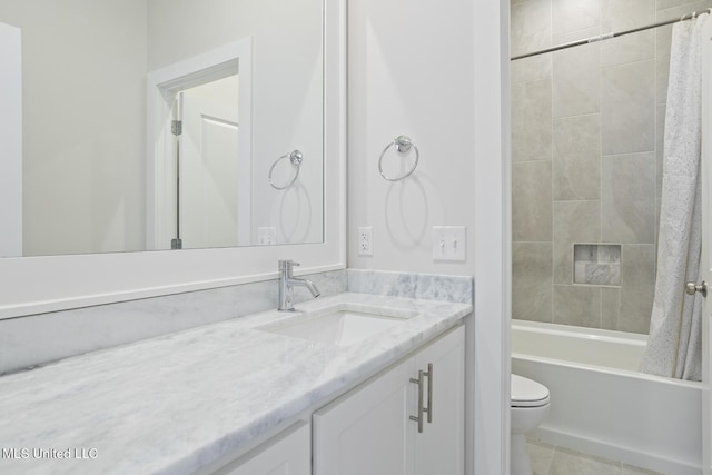
<path fill-rule="evenodd" d="M 238 244 L 239 76 L 176 96 L 176 237 L 172 248 Z"/>

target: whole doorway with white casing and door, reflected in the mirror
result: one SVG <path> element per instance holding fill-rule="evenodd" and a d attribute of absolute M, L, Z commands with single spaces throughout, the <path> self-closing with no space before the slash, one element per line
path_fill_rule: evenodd
<path fill-rule="evenodd" d="M 251 82 L 250 38 L 149 73 L 150 249 L 250 244 Z"/>

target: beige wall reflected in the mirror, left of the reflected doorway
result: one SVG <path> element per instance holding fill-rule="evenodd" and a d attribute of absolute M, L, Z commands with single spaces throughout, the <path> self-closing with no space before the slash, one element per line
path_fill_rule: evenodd
<path fill-rule="evenodd" d="M 0 11 L 22 30 L 24 255 L 142 248 L 146 0 Z"/>

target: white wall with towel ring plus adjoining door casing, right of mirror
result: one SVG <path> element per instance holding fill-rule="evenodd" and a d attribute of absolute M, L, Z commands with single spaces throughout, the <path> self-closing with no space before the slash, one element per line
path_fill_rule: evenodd
<path fill-rule="evenodd" d="M 508 2 L 362 0 L 348 13 L 348 266 L 475 276 L 467 473 L 507 474 Z M 378 157 L 400 133 L 421 161 L 392 184 Z M 439 225 L 467 227 L 464 263 L 433 260 Z M 360 226 L 373 257 L 358 255 Z"/>

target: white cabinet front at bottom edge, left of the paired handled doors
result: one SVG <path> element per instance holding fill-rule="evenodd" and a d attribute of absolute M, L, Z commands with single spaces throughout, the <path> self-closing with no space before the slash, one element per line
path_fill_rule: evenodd
<path fill-rule="evenodd" d="M 312 431 L 295 425 L 222 467 L 215 475 L 310 475 Z"/>

